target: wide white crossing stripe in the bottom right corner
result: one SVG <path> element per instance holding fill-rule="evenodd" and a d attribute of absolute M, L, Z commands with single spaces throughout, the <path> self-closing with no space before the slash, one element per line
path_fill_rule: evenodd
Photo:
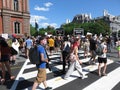
<path fill-rule="evenodd" d="M 110 72 L 106 77 L 93 82 L 83 90 L 112 90 L 112 88 L 120 82 L 120 67 Z M 104 85 L 103 85 L 104 84 Z"/>

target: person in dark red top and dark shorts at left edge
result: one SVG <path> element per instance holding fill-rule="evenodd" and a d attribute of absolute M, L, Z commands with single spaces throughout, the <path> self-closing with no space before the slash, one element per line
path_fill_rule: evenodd
<path fill-rule="evenodd" d="M 0 66 L 2 68 L 2 78 L 1 78 L 1 84 L 4 84 L 6 78 L 6 69 L 9 73 L 9 78 L 13 80 L 15 76 L 12 75 L 10 64 L 10 47 L 8 46 L 5 39 L 0 39 Z"/>

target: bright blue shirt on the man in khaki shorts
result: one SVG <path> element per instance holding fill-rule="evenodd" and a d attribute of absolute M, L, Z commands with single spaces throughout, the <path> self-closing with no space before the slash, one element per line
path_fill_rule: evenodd
<path fill-rule="evenodd" d="M 46 51 L 45 51 L 45 48 L 43 46 L 41 46 L 41 45 L 38 46 L 38 52 L 40 54 L 43 53 L 44 58 L 47 59 Z M 37 66 L 37 68 L 46 68 L 46 62 L 41 61 L 41 63 L 36 65 L 36 66 Z"/>

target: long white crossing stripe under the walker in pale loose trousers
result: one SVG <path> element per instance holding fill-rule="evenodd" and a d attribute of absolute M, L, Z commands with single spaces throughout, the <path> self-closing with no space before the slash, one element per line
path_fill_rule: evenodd
<path fill-rule="evenodd" d="M 107 65 L 109 65 L 109 64 L 111 64 L 111 63 L 113 63 L 113 61 L 112 61 L 112 60 L 108 60 Z M 87 70 L 88 70 L 90 66 L 91 66 L 91 65 L 86 66 L 86 67 L 84 67 L 83 69 L 87 69 Z M 95 71 L 95 70 L 98 69 L 98 66 L 97 66 L 97 65 L 92 65 L 92 66 L 93 66 L 93 68 L 92 68 L 90 71 L 87 71 L 87 72 L 86 72 L 86 71 L 83 71 L 83 73 L 84 73 L 84 74 L 88 74 L 88 73 L 90 73 L 91 71 Z M 103 66 L 102 66 L 102 67 L 103 67 Z M 74 72 L 72 73 L 72 75 L 68 78 L 68 80 L 62 79 L 63 76 L 64 76 L 64 75 L 58 76 L 58 77 L 56 77 L 56 78 L 49 79 L 49 80 L 47 80 L 47 84 L 48 84 L 49 86 L 53 87 L 53 89 L 55 89 L 55 88 L 58 88 L 58 87 L 60 87 L 60 86 L 62 86 L 62 85 L 64 85 L 64 84 L 67 84 L 67 83 L 69 83 L 69 82 L 77 79 L 78 77 L 80 77 L 80 76 L 79 76 L 79 73 L 78 73 L 77 71 L 74 71 Z M 88 78 L 89 78 L 89 77 L 88 77 Z M 44 88 L 43 84 L 40 84 L 39 87 L 42 88 L 42 89 Z M 27 89 L 25 89 L 25 90 L 27 90 Z"/>

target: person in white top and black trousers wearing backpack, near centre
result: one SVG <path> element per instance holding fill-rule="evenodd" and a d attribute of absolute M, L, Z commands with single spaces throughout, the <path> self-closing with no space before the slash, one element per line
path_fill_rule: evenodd
<path fill-rule="evenodd" d="M 66 66 L 66 57 L 69 55 L 69 52 L 70 52 L 70 47 L 71 47 L 71 43 L 70 41 L 68 40 L 68 37 L 64 37 L 64 42 L 62 44 L 62 59 L 63 59 L 63 74 L 66 73 L 65 71 L 65 66 Z M 69 66 L 69 62 L 68 62 L 68 66 Z"/>

